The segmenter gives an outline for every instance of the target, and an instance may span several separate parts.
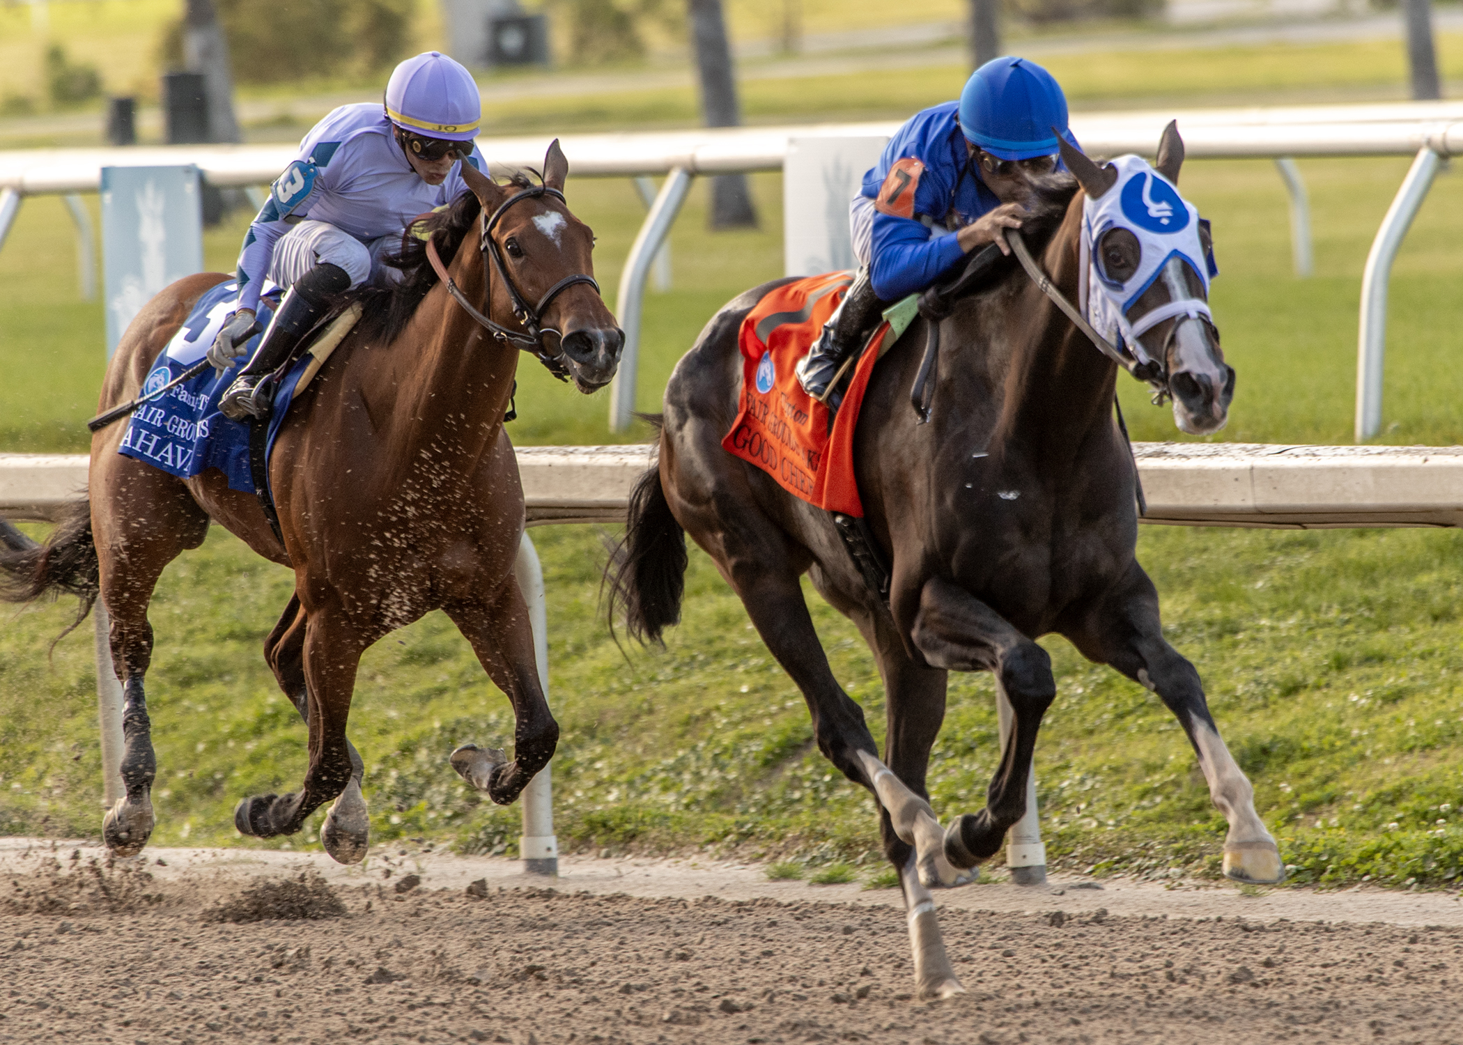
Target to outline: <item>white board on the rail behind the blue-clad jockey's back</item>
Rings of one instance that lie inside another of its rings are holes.
[[[849,203],[888,138],[793,138],[783,165],[786,275],[857,268]]]

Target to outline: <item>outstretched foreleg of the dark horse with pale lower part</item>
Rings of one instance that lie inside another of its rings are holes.
[[[1137,562],[1068,638],[1088,659],[1112,664],[1156,692],[1184,726],[1210,799],[1229,823],[1225,875],[1246,883],[1283,881],[1285,861],[1255,812],[1255,789],[1219,736],[1198,670],[1163,638],[1159,593]]]

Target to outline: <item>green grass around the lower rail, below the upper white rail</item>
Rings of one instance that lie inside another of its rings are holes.
[[[1239,391],[1226,439],[1349,442],[1356,297],[1366,246],[1404,161],[1315,161],[1317,269],[1289,271],[1285,196],[1268,164],[1195,162],[1186,195],[1211,217],[1222,278],[1214,309]],[[762,231],[708,236],[698,189],[673,241],[676,288],[650,300],[639,404],[726,299],[780,272],[780,183],[755,180]],[[601,282],[641,206],[620,181],[572,181],[600,236]],[[1393,278],[1387,442],[1454,443],[1463,433],[1453,347],[1463,201],[1440,177]],[[99,306],[76,303],[66,218],[29,201],[0,250],[0,451],[80,451],[101,378]],[[209,233],[227,268],[241,222]],[[1138,439],[1178,438],[1166,410],[1124,385]],[[521,443],[607,442],[607,404],[521,370]],[[612,643],[595,619],[600,534],[534,531],[550,591],[550,700],[563,724],[554,763],[566,847],[736,850],[780,874],[875,878],[869,799],[812,745],[799,694],[749,629],[705,556],[692,555],[686,618],[664,653]],[[1276,533],[1144,528],[1140,556],[1169,632],[1206,678],[1220,727],[1257,787],[1298,881],[1454,883],[1463,862],[1463,710],[1454,679],[1459,555],[1451,531]],[[246,793],[297,786],[304,730],[259,656],[288,572],[214,531],[164,575],[151,695],[161,843],[260,844],[234,836]],[[868,651],[813,597],[835,672],[882,735]],[[94,834],[99,760],[89,625],[47,660],[69,607],[0,616],[0,831]],[[1059,697],[1037,751],[1055,861],[1081,869],[1216,872],[1222,820],[1182,732],[1157,701],[1061,640]],[[410,836],[512,853],[518,809],[496,809],[446,767],[458,742],[511,735],[506,701],[448,621],[382,641],[360,673],[353,738],[367,763],[377,840]],[[941,815],[973,811],[993,767],[993,694],[952,676],[930,786]],[[317,817],[291,840],[315,846]],[[787,868],[786,864],[797,865]],[[996,871],[999,874],[999,871]]]

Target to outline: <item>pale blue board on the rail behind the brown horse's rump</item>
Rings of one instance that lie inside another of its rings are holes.
[[[102,167],[107,359],[152,296],[203,271],[198,167]]]

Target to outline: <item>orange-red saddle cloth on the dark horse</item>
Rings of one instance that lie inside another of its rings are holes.
[[[793,496],[862,518],[853,432],[890,325],[869,338],[837,413],[808,395],[793,373],[851,284],[851,272],[797,280],[771,291],[742,321],[742,410],[721,445]]]

